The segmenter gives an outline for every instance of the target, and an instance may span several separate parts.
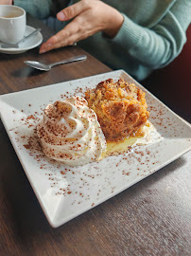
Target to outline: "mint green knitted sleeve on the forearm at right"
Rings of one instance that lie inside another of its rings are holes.
[[[160,68],[177,57],[186,42],[185,31],[191,22],[191,1],[177,0],[153,27],[141,27],[125,14],[123,16],[124,23],[111,43],[140,64],[152,69]]]

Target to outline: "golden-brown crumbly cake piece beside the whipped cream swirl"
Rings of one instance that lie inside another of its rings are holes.
[[[138,134],[148,120],[145,93],[134,83],[120,79],[99,82],[85,94],[88,106],[96,112],[107,140],[123,140]]]

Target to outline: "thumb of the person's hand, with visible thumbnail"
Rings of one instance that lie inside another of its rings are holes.
[[[68,21],[78,16],[78,14],[83,12],[85,9],[87,9],[87,7],[84,5],[83,1],[79,1],[75,5],[61,9],[61,11],[57,13],[57,18],[60,21]]]

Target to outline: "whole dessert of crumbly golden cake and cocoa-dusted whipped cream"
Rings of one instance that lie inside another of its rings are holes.
[[[37,127],[45,155],[77,166],[124,154],[137,142],[148,144],[148,105],[145,93],[133,83],[99,82],[86,91],[85,98],[76,96],[46,106]]]

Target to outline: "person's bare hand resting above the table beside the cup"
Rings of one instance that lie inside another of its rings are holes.
[[[81,0],[62,9],[57,18],[60,21],[73,19],[66,27],[45,42],[40,53],[62,46],[72,46],[96,32],[102,31],[114,37],[123,24],[123,16],[111,6],[97,0]]]

